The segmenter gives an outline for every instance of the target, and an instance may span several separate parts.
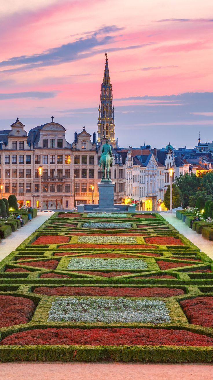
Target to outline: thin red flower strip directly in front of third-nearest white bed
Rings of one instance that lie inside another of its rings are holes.
[[[157,249],[157,247],[153,246],[153,245],[148,245],[148,244],[72,244],[72,246],[70,244],[64,244],[64,245],[59,245],[58,248],[98,248],[98,246],[100,246],[101,248],[110,248],[110,249],[143,249],[143,248],[146,248],[146,249]]]

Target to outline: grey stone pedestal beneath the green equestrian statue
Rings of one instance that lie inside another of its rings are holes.
[[[96,212],[116,212],[120,211],[114,207],[114,187],[115,182],[112,182],[108,179],[102,179],[98,183],[98,192],[99,192],[99,202],[98,207],[93,208],[93,211]]]

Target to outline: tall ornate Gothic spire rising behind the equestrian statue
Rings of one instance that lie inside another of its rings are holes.
[[[101,84],[101,108],[98,108],[98,142],[106,136],[109,144],[115,147],[115,123],[114,106],[112,107],[112,85],[110,83],[108,59],[106,53],[106,63],[104,78]]]

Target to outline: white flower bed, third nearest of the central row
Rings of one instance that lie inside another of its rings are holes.
[[[136,244],[137,240],[134,236],[79,236],[78,243],[92,243],[92,244]]]

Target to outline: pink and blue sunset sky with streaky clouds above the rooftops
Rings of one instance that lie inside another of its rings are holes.
[[[121,147],[213,140],[212,0],[0,3],[0,128],[97,131],[108,52]]]

